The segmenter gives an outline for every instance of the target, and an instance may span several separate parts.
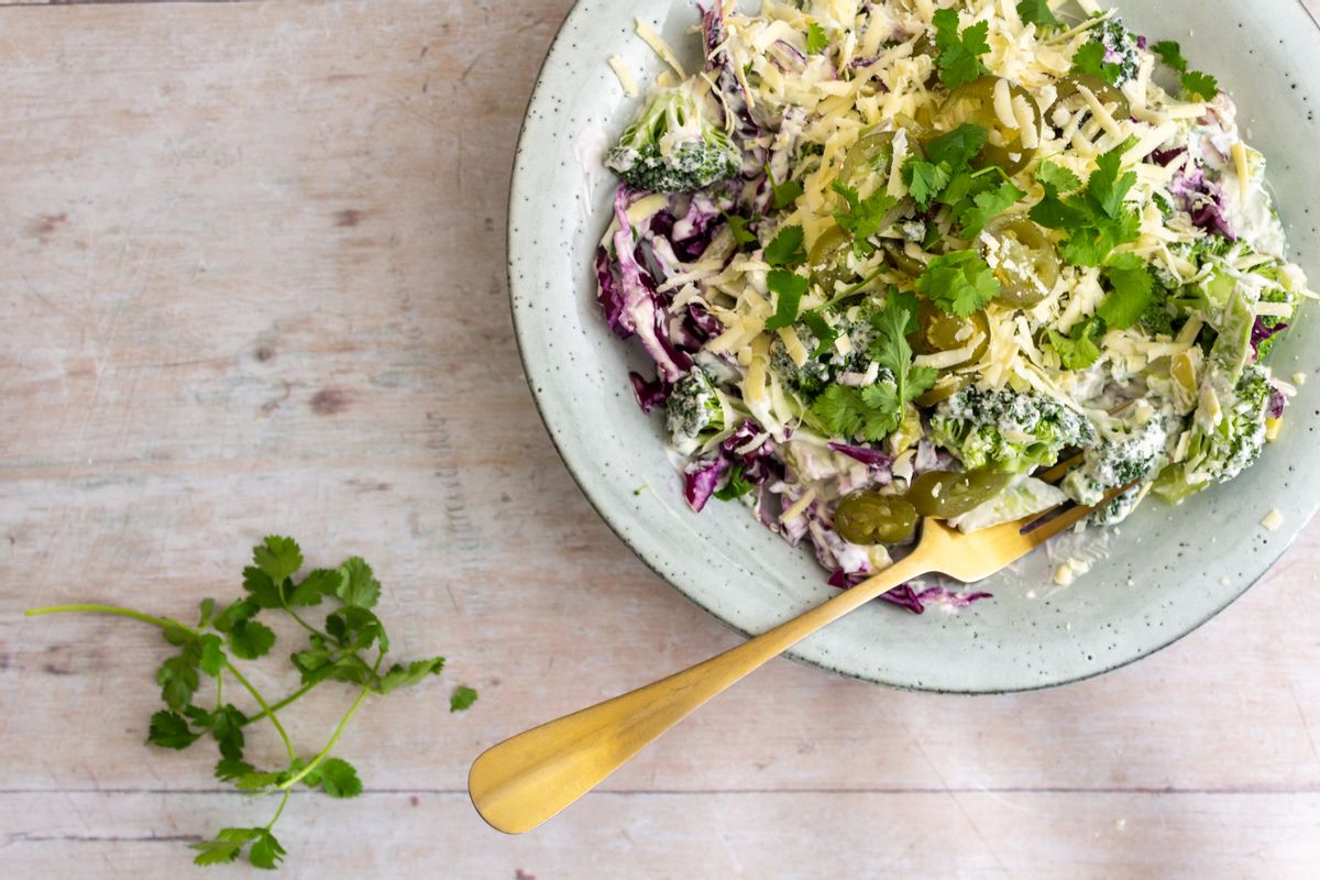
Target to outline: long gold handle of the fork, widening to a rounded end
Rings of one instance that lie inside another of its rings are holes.
[[[467,777],[473,805],[499,831],[531,831],[748,673],[876,596],[928,571],[928,566],[909,557],[702,664],[491,747],[473,763]]]

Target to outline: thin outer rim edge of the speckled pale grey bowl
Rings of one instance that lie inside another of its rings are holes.
[[[706,612],[710,616],[713,616],[715,620],[718,620],[719,623],[722,623],[729,629],[733,629],[734,632],[737,632],[737,633],[739,633],[739,635],[742,635],[744,637],[752,637],[752,636],[755,636],[758,633],[750,632],[746,628],[739,627],[735,623],[730,621],[723,615],[718,613],[708,603],[702,602],[694,592],[684,588],[682,584],[677,583],[672,577],[669,577],[668,574],[665,574],[661,570],[661,567],[657,565],[657,562],[655,559],[652,559],[649,557],[649,554],[644,553],[639,546],[636,546],[636,544],[634,544],[634,541],[626,534],[626,532],[623,530],[623,525],[619,521],[616,521],[615,516],[612,516],[611,512],[607,509],[606,501],[601,500],[597,496],[597,493],[591,491],[590,482],[583,476],[582,472],[579,472],[579,468],[573,464],[573,459],[566,453],[566,450],[564,449],[560,438],[557,437],[557,434],[553,430],[550,430],[553,416],[548,410],[548,406],[546,406],[546,402],[545,402],[545,394],[543,393],[543,391],[540,391],[537,388],[536,381],[533,379],[535,364],[531,361],[531,355],[528,352],[528,344],[527,344],[525,332],[524,332],[525,327],[524,327],[524,323],[523,323],[524,319],[525,319],[525,315],[523,314],[523,310],[519,309],[517,299],[513,296],[515,289],[519,286],[517,285],[517,280],[515,277],[515,261],[516,261],[516,256],[515,255],[516,255],[516,248],[517,248],[517,243],[516,243],[517,241],[517,236],[515,234],[516,212],[515,212],[515,204],[513,203],[515,203],[515,199],[516,199],[517,194],[523,190],[523,186],[524,186],[523,177],[524,177],[525,173],[528,173],[523,168],[523,153],[524,153],[524,145],[525,145],[525,136],[527,136],[527,129],[528,129],[529,120],[531,120],[531,111],[532,111],[533,107],[537,106],[539,99],[543,98],[545,71],[546,71],[548,66],[550,65],[552,59],[556,55],[556,49],[560,46],[560,42],[565,37],[565,26],[583,9],[583,7],[587,5],[587,3],[589,3],[589,0],[576,0],[574,4],[572,5],[572,8],[565,13],[565,16],[562,17],[562,20],[560,21],[560,25],[556,28],[554,37],[550,41],[550,45],[549,45],[549,47],[548,47],[548,50],[545,53],[545,58],[541,61],[541,65],[540,65],[540,67],[537,70],[537,75],[536,75],[536,79],[535,79],[532,95],[531,95],[531,98],[527,102],[527,107],[524,110],[523,119],[521,119],[520,125],[519,125],[517,146],[515,149],[513,160],[512,160],[512,170],[511,170],[511,177],[510,177],[510,190],[508,190],[508,197],[507,197],[507,201],[506,201],[506,280],[508,282],[510,311],[511,311],[511,315],[512,315],[512,323],[513,323],[513,330],[515,330],[515,340],[516,340],[517,351],[519,351],[519,359],[520,359],[520,363],[523,365],[524,381],[527,383],[528,391],[529,391],[529,393],[532,396],[533,405],[536,406],[537,414],[539,414],[539,417],[540,417],[540,420],[543,422],[543,426],[545,427],[545,433],[549,437],[550,443],[552,443],[556,454],[558,455],[560,460],[564,463],[565,468],[569,471],[569,475],[573,478],[574,483],[577,483],[577,486],[578,486],[579,491],[582,492],[582,495],[587,499],[587,501],[595,509],[597,515],[605,521],[605,524],[619,538],[619,541],[622,541],[643,562],[643,565],[647,566],[647,569],[649,569],[656,577],[659,577],[665,583],[668,583],[672,588],[675,588],[681,596],[684,596],[693,606],[701,608],[704,612]],[[1308,15],[1309,15],[1309,12],[1308,12]],[[1320,21],[1315,21],[1315,20],[1312,20],[1312,21],[1313,21],[1313,24],[1316,24],[1317,26],[1320,26]],[[528,310],[528,313],[529,313],[529,310]],[[1316,317],[1311,315],[1311,319],[1316,319]],[[1309,519],[1315,515],[1316,507],[1317,505],[1312,505],[1312,511],[1307,516],[1307,521],[1309,521]],[[1131,656],[1129,656],[1129,657],[1126,657],[1126,658],[1123,658],[1123,660],[1121,660],[1118,662],[1114,662],[1114,664],[1110,664],[1110,665],[1106,665],[1106,666],[1100,666],[1100,668],[1097,668],[1094,670],[1090,670],[1090,672],[1086,672],[1086,673],[1082,673],[1082,674],[1076,674],[1076,676],[1069,676],[1069,677],[1065,677],[1065,678],[1059,678],[1059,679],[1055,679],[1055,681],[1048,681],[1048,682],[1044,682],[1044,683],[1040,683],[1040,685],[1024,685],[1024,686],[1015,686],[1015,687],[991,687],[991,689],[956,689],[956,687],[924,686],[924,685],[919,685],[919,683],[913,685],[913,683],[908,683],[908,682],[887,681],[887,679],[884,679],[882,677],[865,676],[865,674],[857,673],[854,670],[845,669],[842,666],[837,666],[837,665],[833,665],[830,662],[817,660],[814,657],[803,656],[801,653],[799,653],[796,650],[796,648],[787,650],[784,653],[784,656],[788,657],[789,660],[793,660],[793,661],[799,662],[799,664],[803,664],[803,665],[807,665],[807,666],[812,666],[812,668],[816,668],[816,669],[822,669],[822,670],[826,670],[826,672],[842,676],[845,678],[851,678],[851,679],[855,679],[855,681],[861,681],[861,682],[866,682],[866,683],[873,683],[873,685],[880,685],[880,686],[884,686],[884,687],[891,687],[891,689],[895,689],[895,690],[909,691],[909,693],[928,693],[928,694],[957,695],[957,697],[994,697],[994,695],[1006,695],[1006,694],[1016,694],[1016,693],[1048,691],[1048,690],[1053,690],[1053,689],[1057,689],[1057,687],[1064,687],[1067,685],[1074,685],[1074,683],[1090,681],[1093,678],[1100,678],[1102,676],[1113,673],[1115,670],[1123,669],[1123,668],[1130,666],[1130,665],[1133,665],[1133,664],[1135,664],[1135,662],[1138,662],[1140,660],[1151,657],[1151,656],[1154,656],[1154,654],[1164,650],[1166,648],[1170,648],[1170,646],[1177,644],[1179,641],[1181,641],[1187,636],[1191,636],[1192,633],[1197,632],[1201,627],[1204,627],[1205,624],[1208,624],[1209,621],[1212,621],[1214,617],[1217,617],[1220,613],[1222,613],[1226,608],[1229,608],[1229,606],[1232,606],[1233,603],[1236,603],[1238,599],[1241,599],[1243,595],[1246,595],[1246,592],[1249,590],[1251,590],[1262,579],[1265,579],[1272,571],[1272,569],[1278,565],[1278,562],[1292,548],[1292,545],[1295,544],[1296,537],[1300,533],[1302,528],[1303,526],[1298,526],[1288,536],[1288,538],[1284,542],[1282,542],[1282,545],[1279,545],[1278,550],[1269,558],[1269,563],[1258,574],[1255,574],[1254,577],[1250,577],[1250,578],[1245,579],[1238,588],[1236,588],[1230,594],[1226,594],[1226,598],[1221,603],[1218,603],[1213,610],[1210,610],[1208,613],[1205,613],[1203,617],[1200,617],[1192,625],[1187,627],[1184,631],[1176,632],[1172,636],[1170,636],[1168,639],[1166,639],[1163,641],[1159,641],[1158,644],[1154,644],[1154,645],[1151,645],[1148,648],[1139,649],[1139,650],[1134,652]]]

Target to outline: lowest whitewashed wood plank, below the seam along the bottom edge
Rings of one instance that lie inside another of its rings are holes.
[[[0,859],[11,876],[62,876],[70,864],[79,876],[187,876],[194,835],[264,822],[271,806],[220,796],[3,796]],[[1316,811],[1317,794],[594,794],[536,834],[510,838],[459,794],[308,796],[279,830],[290,879],[1309,880],[1320,862]]]

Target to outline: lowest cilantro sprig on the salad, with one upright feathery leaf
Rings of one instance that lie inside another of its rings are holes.
[[[871,358],[887,375],[866,388],[830,385],[812,404],[812,416],[830,434],[876,443],[899,429],[908,404],[931,391],[939,373],[912,363],[907,335],[916,321],[911,294],[891,289],[871,325],[876,338]]]

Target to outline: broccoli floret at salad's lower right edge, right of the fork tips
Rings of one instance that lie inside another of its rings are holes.
[[[1261,458],[1270,408],[1270,373],[1250,365],[1229,394],[1206,385],[1187,456],[1160,474],[1155,493],[1177,504],[1214,483],[1226,483]]]

